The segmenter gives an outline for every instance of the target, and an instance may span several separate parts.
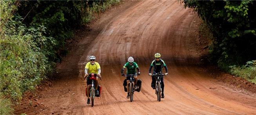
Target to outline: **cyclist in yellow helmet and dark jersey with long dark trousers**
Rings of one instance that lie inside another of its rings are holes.
[[[160,59],[161,58],[161,54],[159,53],[156,53],[155,54],[155,58],[150,67],[149,67],[149,75],[152,75],[151,74],[151,69],[152,67],[154,67],[153,69],[153,74],[156,74],[156,73],[160,73],[162,72],[163,70],[163,67],[165,68],[165,75],[168,75],[168,69],[167,69],[167,66],[166,64],[164,63],[163,59]],[[151,82],[151,87],[153,89],[156,89],[156,79],[154,77],[152,77],[152,82]],[[164,95],[163,95],[163,88],[164,88],[164,84],[163,84],[163,77],[161,78],[161,88],[162,88],[162,98],[164,98]]]

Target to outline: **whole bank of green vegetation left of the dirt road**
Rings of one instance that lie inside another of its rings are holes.
[[[54,73],[65,41],[119,0],[0,1],[0,115]]]

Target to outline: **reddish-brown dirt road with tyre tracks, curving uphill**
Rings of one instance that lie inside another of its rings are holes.
[[[58,79],[40,90],[38,100],[16,109],[16,114],[61,115],[172,115],[172,114],[256,114],[256,98],[232,90],[212,78],[191,54],[198,18],[176,0],[126,1],[103,14],[91,32],[81,32],[69,55],[58,65]],[[84,35],[81,35],[84,34]],[[157,101],[148,69],[159,52],[167,64],[165,98]],[[102,69],[102,95],[94,107],[86,104],[86,82],[82,81],[88,56],[96,56]],[[123,91],[122,66],[129,56],[142,75],[141,92],[134,101]],[[25,105],[25,104],[24,104]]]

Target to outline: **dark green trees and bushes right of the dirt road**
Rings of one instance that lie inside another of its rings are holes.
[[[209,56],[222,70],[256,83],[256,1],[182,0],[212,35]]]

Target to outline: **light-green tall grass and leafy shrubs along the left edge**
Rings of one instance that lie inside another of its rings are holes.
[[[42,34],[44,29],[31,31],[32,27],[22,24],[22,18],[13,19],[12,1],[1,1],[0,9],[0,114],[6,115],[13,112],[11,101],[19,102],[22,94],[33,90],[53,66],[36,41],[45,38],[42,43],[46,44],[51,40]]]

